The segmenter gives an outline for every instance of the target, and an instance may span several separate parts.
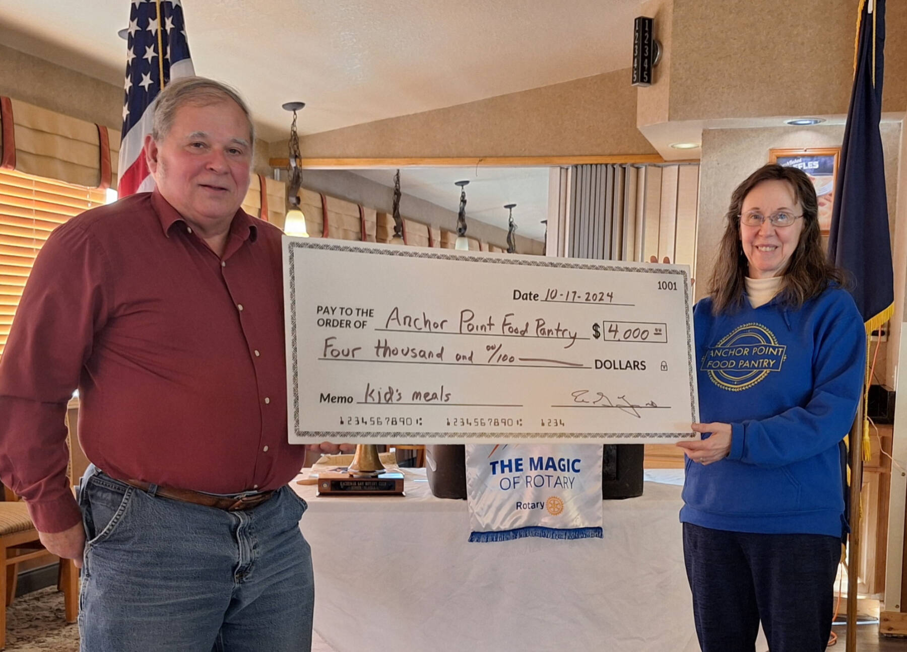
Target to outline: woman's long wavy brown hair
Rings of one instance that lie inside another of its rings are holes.
[[[804,227],[794,254],[787,262],[785,280],[778,293],[779,300],[789,307],[801,307],[807,299],[822,294],[829,283],[845,285],[844,270],[834,266],[822,249],[819,230],[818,202],[815,187],[803,170],[780,165],[764,165],[736,187],[725,216],[725,234],[718,245],[718,258],[712,272],[709,294],[712,313],[743,306],[746,285],[744,279],[749,261],[740,243],[740,211],[750,190],[763,181],[786,181],[794,190],[794,199],[803,209]]]

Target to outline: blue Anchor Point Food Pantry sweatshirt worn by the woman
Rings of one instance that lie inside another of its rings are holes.
[[[680,521],[842,536],[839,443],[860,401],[866,346],[853,298],[829,287],[796,310],[775,297],[719,316],[706,298],[694,325],[699,421],[730,423],[732,439],[724,460],[687,460]]]

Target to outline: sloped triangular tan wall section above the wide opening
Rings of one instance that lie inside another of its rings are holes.
[[[446,109],[305,136],[307,158],[653,154],[636,128],[630,72],[558,83]],[[285,157],[286,141],[271,143]]]

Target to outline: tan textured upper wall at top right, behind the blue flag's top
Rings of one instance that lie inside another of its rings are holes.
[[[846,113],[858,0],[673,0],[672,121]],[[907,3],[887,3],[883,111],[907,109]]]

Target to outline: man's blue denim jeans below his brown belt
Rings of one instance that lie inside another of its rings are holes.
[[[82,652],[300,652],[314,583],[306,502],[282,487],[247,511],[141,491],[88,468]]]

